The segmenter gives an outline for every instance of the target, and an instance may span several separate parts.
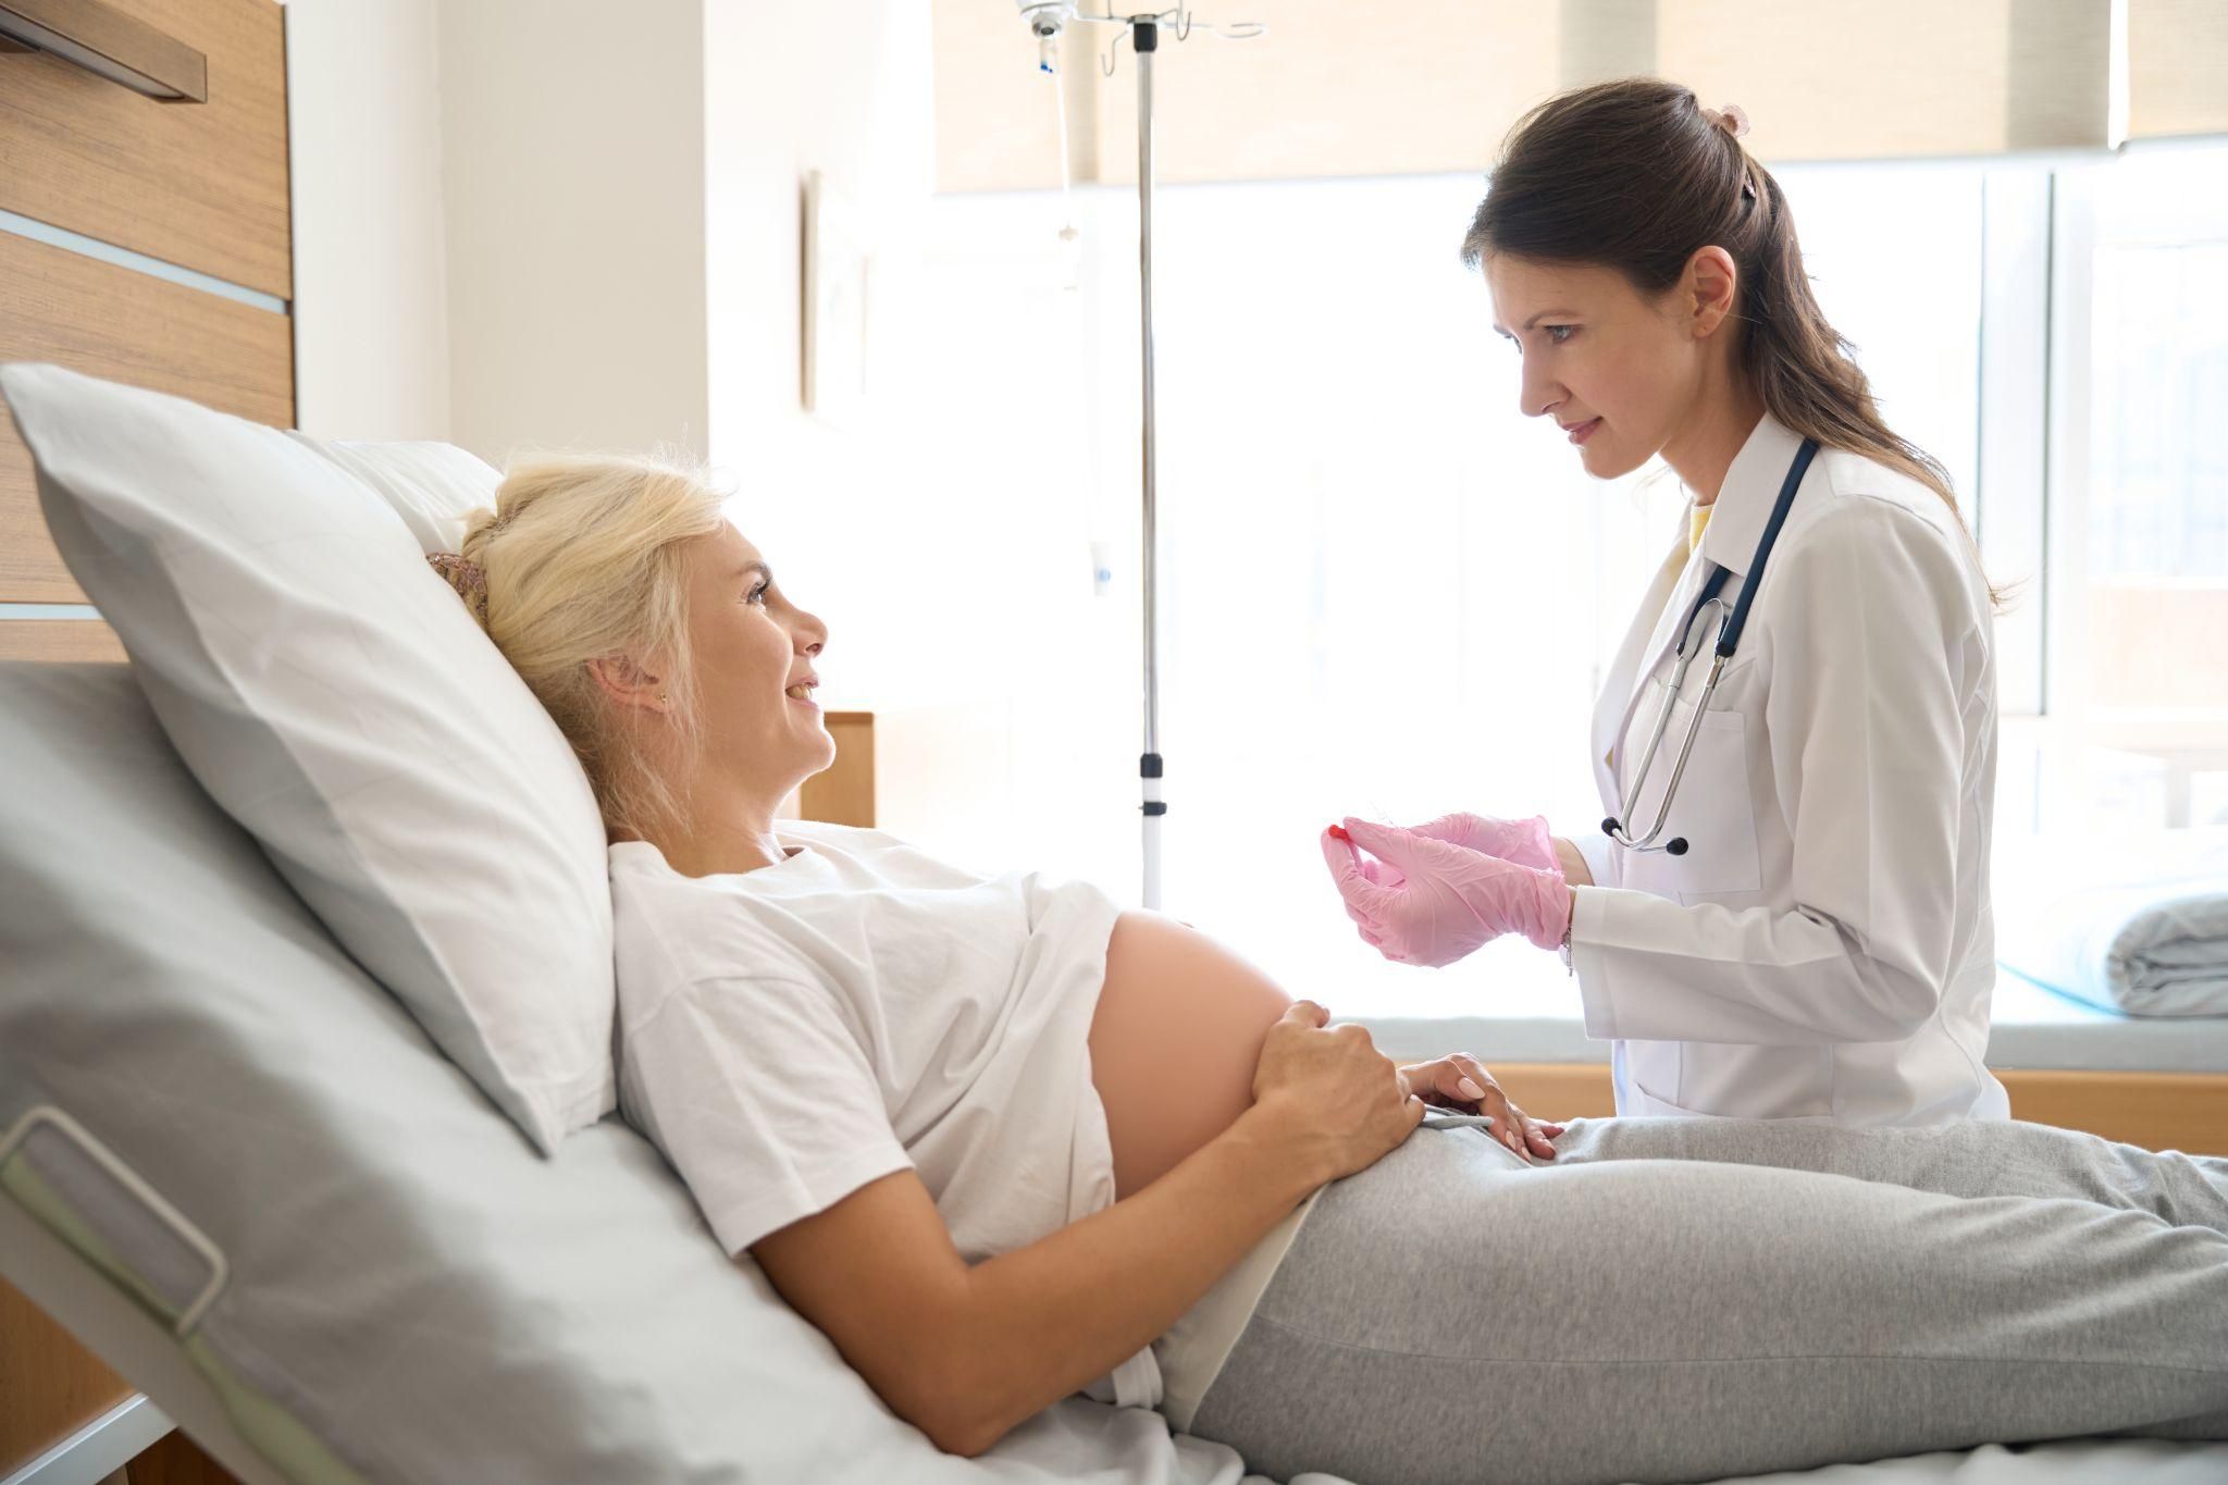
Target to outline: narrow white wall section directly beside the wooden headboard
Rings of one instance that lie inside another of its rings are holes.
[[[448,439],[434,0],[292,0],[296,423]]]

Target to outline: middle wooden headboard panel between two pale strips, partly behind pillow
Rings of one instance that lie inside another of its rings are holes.
[[[11,234],[0,234],[0,361],[53,361],[256,423],[294,423],[287,316]],[[0,603],[82,601],[47,541],[31,454],[0,419]]]

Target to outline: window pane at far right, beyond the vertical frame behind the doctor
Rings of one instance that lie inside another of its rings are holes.
[[[2025,824],[2228,824],[2228,145],[2063,169],[2052,225],[2048,704],[2021,739]]]

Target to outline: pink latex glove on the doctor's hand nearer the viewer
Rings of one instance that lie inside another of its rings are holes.
[[[1364,942],[1395,964],[1439,968],[1504,933],[1562,944],[1571,888],[1560,871],[1366,819],[1346,819],[1343,830],[1343,842],[1323,830],[1323,864]]]

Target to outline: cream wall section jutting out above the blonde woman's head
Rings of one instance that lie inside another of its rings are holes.
[[[439,49],[452,441],[702,459],[702,0],[452,2]]]

